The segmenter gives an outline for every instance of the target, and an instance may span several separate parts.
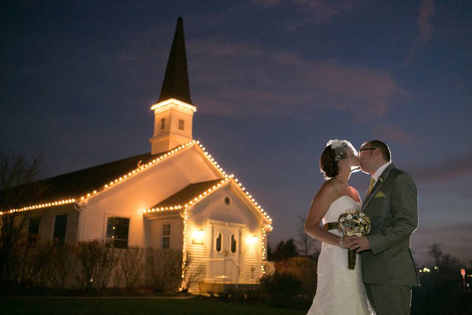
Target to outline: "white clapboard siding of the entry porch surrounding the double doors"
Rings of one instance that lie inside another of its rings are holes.
[[[238,189],[229,183],[224,187],[208,195],[202,201],[190,208],[187,223],[187,252],[194,260],[209,258],[211,251],[211,225],[210,221],[228,222],[241,226],[241,239],[239,240],[240,259],[239,266],[241,274],[240,283],[254,283],[261,277],[261,242],[262,242],[262,219],[247,203]],[[224,199],[229,196],[231,203],[226,205]],[[206,241],[203,245],[192,243],[192,233],[198,229],[205,230]],[[255,244],[246,240],[253,235],[258,237]],[[231,258],[230,256],[228,258]],[[194,263],[196,267],[197,264]],[[251,267],[256,267],[255,279],[250,279]]]

